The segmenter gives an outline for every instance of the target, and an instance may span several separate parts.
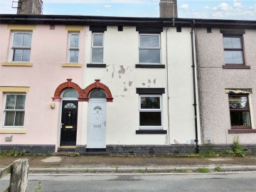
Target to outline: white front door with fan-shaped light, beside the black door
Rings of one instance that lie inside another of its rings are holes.
[[[89,100],[87,148],[106,148],[106,100]]]

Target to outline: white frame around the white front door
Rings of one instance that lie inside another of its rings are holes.
[[[93,146],[90,146],[89,142],[90,142],[90,123],[91,123],[91,116],[92,116],[92,113],[91,113],[91,107],[92,107],[92,103],[97,103],[97,102],[100,102],[102,103],[103,105],[105,105],[105,112],[104,112],[104,115],[105,115],[105,122],[107,121],[107,100],[105,98],[92,98],[89,100],[89,105],[88,105],[88,121],[87,121],[87,146],[86,148],[88,149],[105,149],[106,148],[106,143],[107,143],[107,123],[105,123],[105,131],[103,133],[105,133],[105,135],[103,137],[105,137],[104,139],[104,144],[102,144],[103,147],[93,147]],[[89,146],[88,146],[89,144]]]

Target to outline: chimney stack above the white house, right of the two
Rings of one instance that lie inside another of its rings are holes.
[[[178,17],[177,0],[161,0],[159,6],[160,17]]]

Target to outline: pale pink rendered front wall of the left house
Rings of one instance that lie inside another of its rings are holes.
[[[8,62],[11,31],[7,25],[1,25],[1,55],[0,63]],[[80,63],[84,61],[85,31],[80,33]],[[32,67],[0,66],[0,86],[30,87],[26,94],[24,128],[25,134],[12,134],[12,142],[5,142],[6,135],[0,134],[1,144],[55,144],[59,146],[60,138],[60,107],[61,102],[55,102],[55,109],[50,109],[50,103],[55,89],[68,78],[82,87],[82,68],[63,68],[67,63],[68,31],[65,26],[55,26],[50,30],[48,25],[38,25],[33,30],[31,45]],[[4,94],[0,92],[1,112],[4,106]],[[82,105],[79,104],[79,114]],[[1,127],[3,119],[0,116]],[[78,115],[78,133],[81,132],[82,118]],[[78,134],[80,135],[80,134]],[[80,137],[78,137],[80,139]],[[79,143],[80,141],[78,141]]]

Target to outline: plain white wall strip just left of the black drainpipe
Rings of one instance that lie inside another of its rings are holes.
[[[170,142],[190,144],[196,139],[193,107],[191,28],[168,29]],[[198,113],[199,117],[199,113]],[[200,140],[198,118],[198,139]]]

